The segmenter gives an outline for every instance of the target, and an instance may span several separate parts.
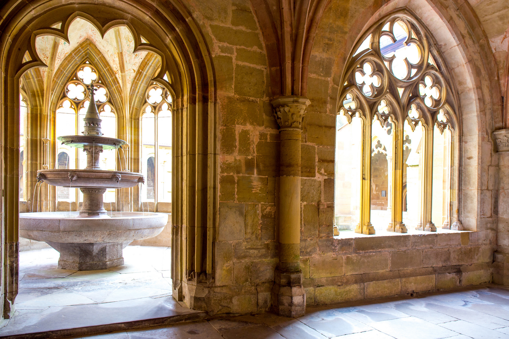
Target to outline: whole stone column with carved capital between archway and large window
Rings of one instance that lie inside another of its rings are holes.
[[[300,270],[300,140],[302,117],[309,100],[300,96],[274,99],[279,124],[279,264],[272,289],[274,312],[303,316],[306,294]]]

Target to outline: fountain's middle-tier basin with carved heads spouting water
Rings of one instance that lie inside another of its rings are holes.
[[[141,173],[85,169],[39,170],[37,179],[52,186],[100,189],[123,189],[145,182]]]

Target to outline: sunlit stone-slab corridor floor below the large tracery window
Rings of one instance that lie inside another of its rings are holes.
[[[509,338],[509,290],[488,286],[414,298],[308,307],[272,314],[88,336],[100,339],[496,339]]]

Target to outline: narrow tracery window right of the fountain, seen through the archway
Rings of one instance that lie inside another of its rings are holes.
[[[142,108],[142,202],[172,202],[172,104],[169,91],[152,83]]]

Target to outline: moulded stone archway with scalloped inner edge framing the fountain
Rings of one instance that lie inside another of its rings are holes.
[[[101,4],[68,1],[11,1],[0,20],[0,94],[2,105],[2,289],[3,317],[10,318],[18,285],[18,166],[19,79],[27,70],[45,67],[35,39],[52,35],[67,40],[70,23],[89,21],[101,34],[127,26],[134,51],[150,51],[161,58],[152,81],[175,93],[172,278],[174,298],[194,304],[195,288],[213,282],[212,232],[217,223],[217,111],[214,70],[204,39],[187,10],[178,2],[160,4],[108,0]],[[150,13],[150,16],[147,15]],[[60,28],[51,27],[60,22]],[[143,41],[142,37],[145,39]],[[30,60],[23,63],[23,55]],[[163,79],[169,74],[169,81]],[[39,147],[42,149],[42,142]],[[184,298],[183,296],[187,297]]]

